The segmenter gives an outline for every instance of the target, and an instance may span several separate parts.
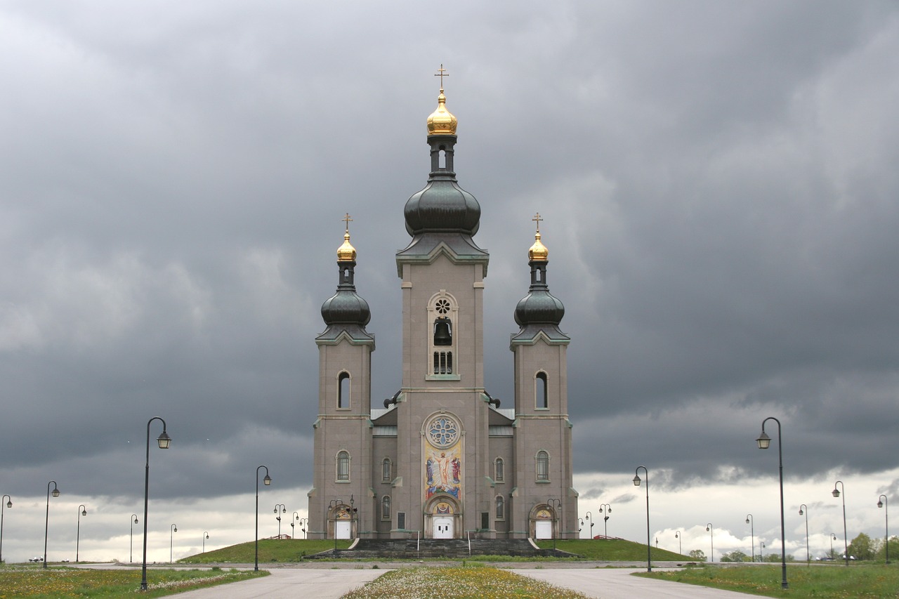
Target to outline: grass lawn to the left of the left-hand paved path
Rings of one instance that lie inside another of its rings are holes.
[[[0,597],[62,599],[138,593],[144,597],[163,597],[259,576],[268,576],[268,572],[151,569],[147,570],[147,592],[140,593],[140,570],[4,566],[0,568]]]

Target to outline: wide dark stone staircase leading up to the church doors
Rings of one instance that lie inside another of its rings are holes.
[[[305,559],[434,559],[472,555],[577,558],[562,550],[538,549],[529,539],[360,539],[346,550],[327,550]]]

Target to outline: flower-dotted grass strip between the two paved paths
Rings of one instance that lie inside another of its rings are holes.
[[[403,568],[343,599],[586,599],[586,595],[497,568]]]

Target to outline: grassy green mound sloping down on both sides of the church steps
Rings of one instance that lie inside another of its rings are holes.
[[[350,541],[337,541],[338,549],[347,549]],[[540,541],[543,549],[552,549],[553,541]],[[574,553],[583,559],[595,561],[645,561],[646,546],[624,539],[578,539],[572,541],[556,541],[556,548]],[[306,539],[263,539],[259,541],[259,563],[298,562],[304,556],[334,549],[334,540]],[[253,563],[254,542],[231,545],[222,549],[198,553],[188,558],[179,559],[184,564],[228,564]],[[660,561],[688,561],[690,558],[672,551],[652,549],[652,558]],[[540,560],[554,558],[539,558]],[[521,560],[521,559],[517,559]]]

